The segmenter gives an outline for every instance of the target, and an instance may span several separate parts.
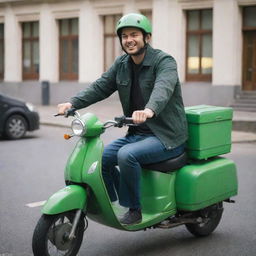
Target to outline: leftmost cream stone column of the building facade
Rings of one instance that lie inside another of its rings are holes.
[[[11,7],[5,11],[5,76],[6,82],[20,82],[22,80],[22,49],[21,27]]]

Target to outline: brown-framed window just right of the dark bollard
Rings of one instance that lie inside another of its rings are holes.
[[[78,19],[59,21],[60,80],[78,79]]]

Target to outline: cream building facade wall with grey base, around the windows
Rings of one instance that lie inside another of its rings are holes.
[[[229,105],[242,78],[241,6],[256,0],[81,0],[19,1],[0,5],[5,22],[5,81],[0,92],[41,103],[40,81],[51,82],[51,104],[62,102],[95,80],[103,71],[102,15],[153,10],[153,47],[177,60],[186,105]],[[185,11],[213,8],[213,80],[185,82]],[[79,80],[58,78],[58,19],[79,17]],[[23,21],[40,21],[40,79],[21,82],[21,27]]]

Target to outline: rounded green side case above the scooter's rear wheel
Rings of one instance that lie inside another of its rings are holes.
[[[237,195],[236,166],[226,158],[196,161],[177,171],[178,210],[196,211]]]

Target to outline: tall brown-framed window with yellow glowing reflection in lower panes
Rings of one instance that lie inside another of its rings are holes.
[[[210,81],[212,76],[212,10],[187,11],[186,79]]]

